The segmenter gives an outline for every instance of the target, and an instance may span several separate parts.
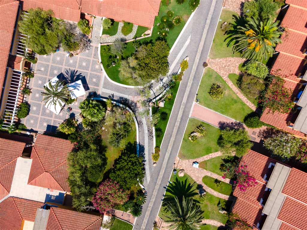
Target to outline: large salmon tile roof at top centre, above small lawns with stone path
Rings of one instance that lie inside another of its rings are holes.
[[[81,11],[115,21],[129,21],[152,27],[161,0],[82,0]]]

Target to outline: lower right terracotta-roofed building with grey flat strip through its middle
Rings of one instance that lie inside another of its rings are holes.
[[[235,188],[232,212],[260,230],[306,229],[307,174],[252,150],[242,161],[257,184]]]

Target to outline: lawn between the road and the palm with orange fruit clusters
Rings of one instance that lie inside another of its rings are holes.
[[[225,35],[221,30],[221,25],[227,21],[228,23],[232,23],[233,17],[232,15],[239,16],[235,11],[223,9],[221,13],[221,17],[215,32],[215,36],[213,38],[211,50],[209,53],[210,58],[224,58],[224,57],[240,57],[239,53],[233,53],[232,45],[233,42],[227,46],[228,40],[225,41],[228,35]]]

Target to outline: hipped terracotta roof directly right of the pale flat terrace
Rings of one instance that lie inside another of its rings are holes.
[[[69,140],[39,134],[32,148],[28,184],[70,192],[66,158],[73,148]]]

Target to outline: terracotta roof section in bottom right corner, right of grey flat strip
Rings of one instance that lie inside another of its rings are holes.
[[[300,230],[306,229],[307,205],[287,197],[277,218]]]

